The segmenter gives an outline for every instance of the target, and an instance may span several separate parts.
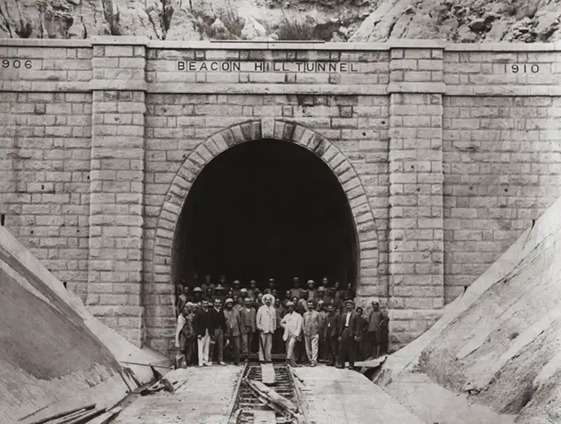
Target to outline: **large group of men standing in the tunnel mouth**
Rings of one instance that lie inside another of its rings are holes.
[[[186,365],[237,365],[258,353],[260,362],[281,354],[294,367],[323,362],[342,368],[348,362],[352,368],[356,360],[386,352],[388,316],[379,301],[363,317],[350,285],[343,289],[337,281],[330,285],[323,278],[316,288],[308,280],[303,289],[293,278],[282,299],[273,278],[262,290],[255,280],[246,288],[239,280],[230,285],[225,275],[217,285],[210,275],[201,284],[194,275],[178,289],[175,347]]]

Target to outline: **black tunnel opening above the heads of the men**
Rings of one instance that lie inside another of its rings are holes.
[[[348,200],[330,167],[297,144],[257,140],[206,165],[177,222],[173,281],[192,275],[269,278],[279,290],[326,276],[356,287],[358,243]],[[283,292],[280,292],[283,293]]]

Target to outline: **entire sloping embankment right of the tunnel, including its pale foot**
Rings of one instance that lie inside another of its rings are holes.
[[[428,421],[559,423],[560,305],[561,199],[375,381]]]

